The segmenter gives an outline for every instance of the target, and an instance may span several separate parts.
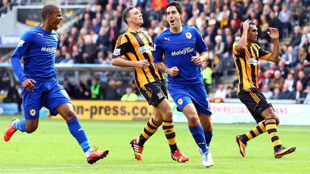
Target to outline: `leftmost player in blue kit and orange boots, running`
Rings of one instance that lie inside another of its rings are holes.
[[[87,162],[93,164],[106,157],[109,151],[97,151],[97,147],[90,147],[71,100],[56,77],[58,71],[55,68],[55,54],[59,36],[54,30],[59,28],[63,20],[62,10],[56,5],[45,5],[41,14],[43,22],[21,36],[11,57],[13,70],[22,86],[25,118],[13,118],[4,131],[3,139],[9,141],[17,130],[34,132],[38,127],[39,112],[44,106],[52,116],[60,114],[66,120],[71,134],[84,151]],[[21,58],[24,60],[24,70],[21,68]]]

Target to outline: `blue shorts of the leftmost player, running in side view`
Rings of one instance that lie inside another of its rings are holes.
[[[58,80],[36,80],[33,85],[35,86],[33,91],[22,87],[25,119],[39,118],[39,112],[43,106],[50,111],[51,116],[56,116],[58,113],[55,108],[65,103],[71,103],[69,95],[60,86]]]

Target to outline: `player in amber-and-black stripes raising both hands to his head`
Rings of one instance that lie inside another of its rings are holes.
[[[240,28],[241,38],[233,43],[234,63],[238,74],[238,97],[254,117],[258,126],[242,135],[237,135],[235,140],[239,146],[240,154],[245,156],[247,141],[268,132],[274,148],[274,157],[281,158],[295,151],[296,147],[285,148],[282,146],[277,132],[279,117],[271,103],[258,89],[258,59],[277,62],[279,58],[279,31],[277,28],[268,28],[268,34],[274,43],[274,50],[270,54],[262,50],[257,44],[257,27],[251,20],[246,20]]]

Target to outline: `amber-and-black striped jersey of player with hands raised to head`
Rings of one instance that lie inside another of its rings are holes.
[[[257,44],[246,45],[243,52],[237,51],[239,40],[233,43],[234,64],[238,74],[238,93],[248,88],[258,88],[258,59],[268,59],[271,53]]]

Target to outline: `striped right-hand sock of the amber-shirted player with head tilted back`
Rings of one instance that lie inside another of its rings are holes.
[[[175,129],[174,129],[173,121],[163,119],[162,130],[167,138],[171,153],[175,152],[177,150],[177,146],[176,146],[176,137],[175,137]]]

